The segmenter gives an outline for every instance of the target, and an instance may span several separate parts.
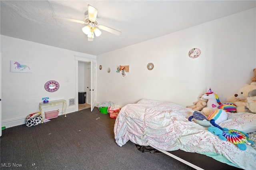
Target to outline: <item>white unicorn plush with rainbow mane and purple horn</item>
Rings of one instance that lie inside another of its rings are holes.
[[[213,111],[217,110],[218,107],[222,104],[220,103],[217,93],[213,93],[211,88],[208,90],[208,93],[205,93],[202,96],[202,98],[208,99],[206,107],[202,109],[202,113],[207,116],[209,116]]]

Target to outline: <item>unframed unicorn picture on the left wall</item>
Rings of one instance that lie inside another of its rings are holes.
[[[22,61],[11,61],[11,72],[32,73],[32,63]]]

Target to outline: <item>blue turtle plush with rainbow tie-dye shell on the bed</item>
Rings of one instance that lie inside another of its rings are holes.
[[[228,130],[228,128],[222,127],[209,127],[208,130],[212,134],[217,135],[220,138],[220,140],[228,140],[232,144],[236,144],[240,150],[246,150],[247,142],[254,144],[254,142],[249,139],[248,134],[242,131],[234,129]]]

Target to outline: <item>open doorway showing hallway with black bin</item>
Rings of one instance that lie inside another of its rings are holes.
[[[90,100],[90,62],[78,61],[78,111],[91,107]]]

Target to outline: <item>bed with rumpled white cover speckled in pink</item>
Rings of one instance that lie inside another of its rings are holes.
[[[220,140],[208,127],[188,121],[193,112],[175,103],[150,99],[128,104],[116,118],[116,143],[123,146],[130,140],[166,154],[181,150],[206,155],[232,167],[256,169],[256,144],[246,144],[246,150],[242,151],[235,144]],[[246,132],[256,142],[256,114],[228,112],[228,120],[220,126]]]

